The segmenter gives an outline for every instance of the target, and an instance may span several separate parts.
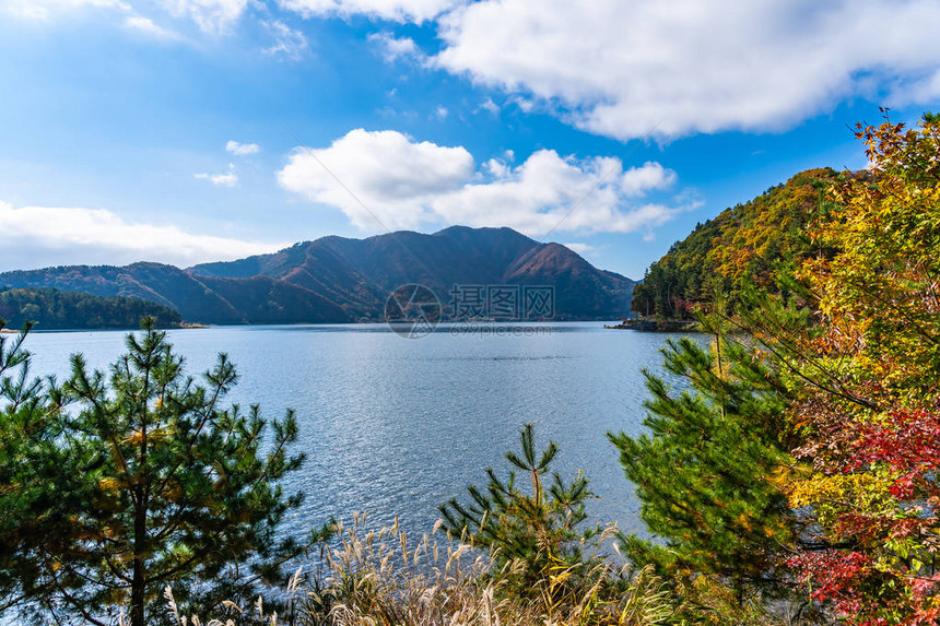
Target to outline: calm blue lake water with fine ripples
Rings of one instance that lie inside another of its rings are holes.
[[[563,476],[586,472],[599,496],[592,518],[642,532],[638,501],[604,434],[641,432],[641,370],[661,373],[667,335],[600,322],[483,329],[442,326],[408,340],[385,324],[222,327],[169,338],[192,374],[228,353],[242,377],[231,401],[258,403],[268,417],[296,410],[307,462],[286,486],[307,499],[289,530],[367,511],[376,524],[399,516],[409,531],[428,532],[437,505],[483,485],[486,468],[506,468],[503,454],[531,422],[540,446],[560,445]],[[67,376],[75,352],[104,368],[124,336],[37,332],[27,341],[34,374]]]

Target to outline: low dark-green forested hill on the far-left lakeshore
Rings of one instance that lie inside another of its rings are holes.
[[[179,328],[183,318],[169,307],[138,298],[102,297],[49,288],[0,290],[0,319],[8,329],[27,321],[36,330],[137,329],[144,317],[157,328]]]

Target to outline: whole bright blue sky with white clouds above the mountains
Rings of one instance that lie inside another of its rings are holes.
[[[940,104],[940,5],[0,0],[0,271],[512,226],[641,277]],[[298,145],[303,144],[303,145]]]

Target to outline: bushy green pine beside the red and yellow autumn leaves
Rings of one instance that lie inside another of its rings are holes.
[[[730,340],[720,316],[703,317],[710,347],[683,338],[663,349],[679,390],[645,373],[648,434],[609,434],[641,517],[665,543],[624,536],[636,566],[663,576],[717,575],[738,590],[773,589],[777,554],[795,541],[796,520],[779,484],[790,466],[787,388],[747,345]]]

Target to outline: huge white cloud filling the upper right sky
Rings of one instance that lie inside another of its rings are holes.
[[[938,23],[924,0],[482,0],[439,19],[434,61],[624,140],[779,130],[857,95],[937,98]]]

